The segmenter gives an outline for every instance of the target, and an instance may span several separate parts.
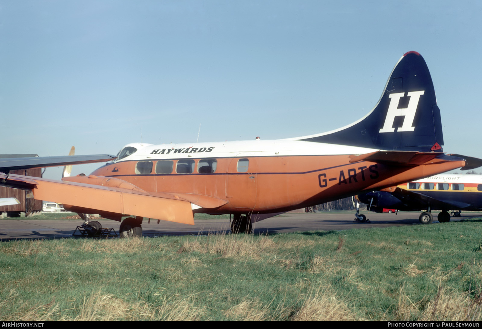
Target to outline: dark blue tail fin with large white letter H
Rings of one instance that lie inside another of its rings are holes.
[[[380,150],[440,151],[442,121],[427,63],[418,52],[405,53],[372,112],[347,127],[296,139]]]

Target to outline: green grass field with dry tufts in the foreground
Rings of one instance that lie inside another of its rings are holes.
[[[0,244],[0,320],[481,320],[482,219]]]

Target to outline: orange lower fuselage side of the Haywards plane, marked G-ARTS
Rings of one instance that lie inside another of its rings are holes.
[[[213,154],[214,155],[214,154]],[[215,158],[215,157],[213,157]],[[247,172],[237,171],[241,157],[215,158],[214,173],[176,173],[178,159],[172,159],[172,173],[136,174],[138,161],[119,161],[95,170],[91,175],[127,181],[151,195],[192,193],[228,201],[217,208],[195,212],[273,213],[306,207],[353,195],[362,190],[380,189],[463,166],[460,162],[432,160],[420,166],[388,166],[360,161],[349,163],[349,155],[253,156]],[[195,161],[198,167],[200,159]],[[145,160],[144,160],[145,161]],[[156,159],[149,159],[155,168]],[[74,177],[71,177],[71,179]],[[83,177],[81,182],[88,182]]]

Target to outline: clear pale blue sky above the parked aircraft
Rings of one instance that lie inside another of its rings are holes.
[[[345,126],[406,51],[444,151],[482,158],[480,1],[0,1],[0,153],[279,139]],[[96,165],[74,166],[73,174]],[[60,177],[47,169],[45,177]]]

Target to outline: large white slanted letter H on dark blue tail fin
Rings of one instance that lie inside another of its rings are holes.
[[[380,129],[380,132],[394,132],[395,128],[392,128],[393,121],[395,120],[396,116],[404,116],[403,125],[399,127],[397,131],[414,131],[415,127],[412,127],[414,124],[414,117],[415,112],[417,111],[418,100],[420,96],[424,94],[425,90],[419,91],[410,91],[407,93],[407,96],[410,96],[410,101],[408,102],[408,106],[405,109],[398,109],[398,103],[400,101],[400,97],[403,97],[405,94],[404,92],[397,92],[388,95],[390,98],[390,104],[388,105],[387,117],[385,118],[385,123],[383,124],[383,128]]]

